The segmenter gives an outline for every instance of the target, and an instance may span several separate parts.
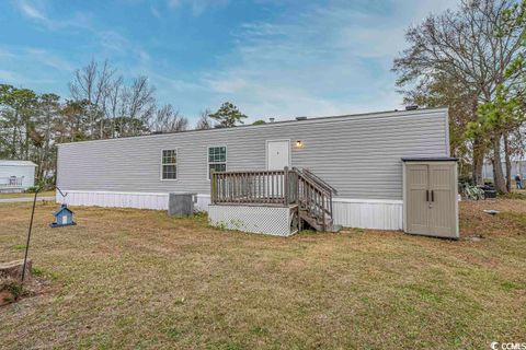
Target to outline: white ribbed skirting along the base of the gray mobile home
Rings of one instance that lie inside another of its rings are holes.
[[[64,190],[64,202],[71,206],[98,206],[168,210],[168,194]],[[57,202],[62,202],[56,192]],[[195,209],[208,211],[209,195],[197,195]],[[403,201],[388,199],[333,199],[334,223],[344,228],[402,230]]]

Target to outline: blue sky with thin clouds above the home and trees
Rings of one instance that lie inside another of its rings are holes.
[[[194,119],[230,101],[286,119],[400,108],[404,30],[455,0],[5,0],[0,82],[68,97],[77,68],[146,74]]]

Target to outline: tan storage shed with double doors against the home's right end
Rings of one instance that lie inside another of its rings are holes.
[[[404,158],[403,231],[459,237],[457,159]]]

